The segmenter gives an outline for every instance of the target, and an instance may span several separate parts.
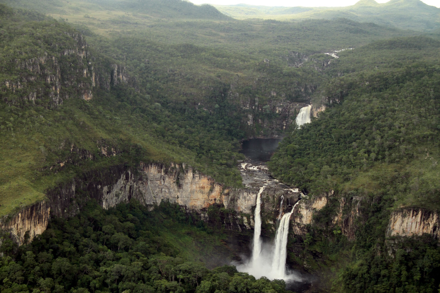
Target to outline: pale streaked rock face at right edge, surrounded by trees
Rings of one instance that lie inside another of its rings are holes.
[[[420,236],[424,233],[440,240],[438,213],[422,209],[406,209],[392,212],[387,236]]]

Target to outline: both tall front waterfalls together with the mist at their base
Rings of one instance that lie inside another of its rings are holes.
[[[260,187],[260,191],[257,195],[257,206],[255,208],[255,225],[253,234],[253,250],[252,258],[248,263],[237,265],[239,271],[244,271],[253,275],[255,278],[260,278],[265,276],[268,279],[284,279],[284,280],[295,280],[293,275],[286,273],[286,257],[287,257],[287,236],[289,234],[289,221],[290,216],[293,213],[295,206],[299,203],[295,203],[292,210],[289,213],[285,213],[281,220],[279,221],[279,227],[275,235],[274,245],[266,244],[263,247],[263,242],[261,240],[261,193],[263,193],[264,188],[267,184]],[[282,210],[282,201],[280,205],[280,214]]]

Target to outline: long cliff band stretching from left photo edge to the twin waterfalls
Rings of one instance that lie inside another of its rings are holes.
[[[169,200],[203,216],[213,204],[223,204],[236,213],[250,214],[256,198],[257,192],[253,189],[226,189],[211,177],[178,164],[142,163],[136,170],[113,166],[106,172],[90,172],[49,190],[47,200],[5,219],[1,227],[10,231],[21,245],[27,240],[26,232],[29,231],[29,241],[32,240],[46,229],[50,217],[74,216],[91,199],[105,209],[130,199],[146,205]],[[249,224],[245,226],[250,228]]]

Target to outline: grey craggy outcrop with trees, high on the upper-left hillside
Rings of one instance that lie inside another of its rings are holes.
[[[15,78],[0,78],[0,99],[14,105],[57,107],[68,98],[91,100],[95,87],[110,90],[110,85],[119,83],[134,85],[135,80],[128,76],[124,66],[109,61],[97,66],[80,33],[63,31],[57,38],[63,43],[62,49],[51,42],[44,43],[45,51],[28,52],[2,65]]]

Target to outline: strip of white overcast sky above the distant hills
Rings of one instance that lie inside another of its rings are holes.
[[[251,5],[266,5],[266,6],[304,6],[304,7],[319,7],[319,6],[330,6],[330,7],[340,7],[349,6],[355,4],[359,0],[191,0],[194,4],[239,4],[246,3]],[[385,3],[389,0],[376,0],[378,3]],[[440,8],[440,0],[422,0],[428,5],[432,5]]]

